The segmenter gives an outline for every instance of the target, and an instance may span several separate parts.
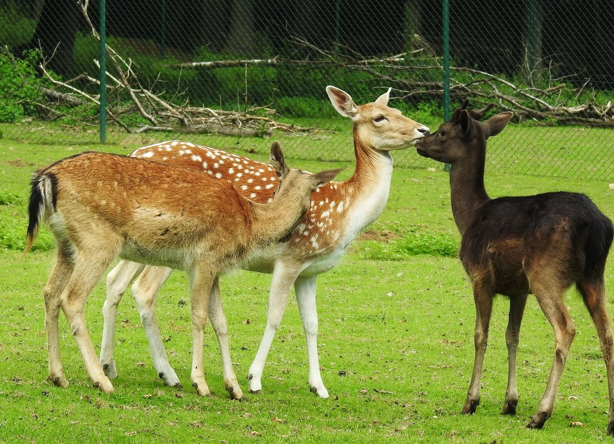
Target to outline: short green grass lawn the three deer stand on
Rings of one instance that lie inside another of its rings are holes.
[[[308,138],[303,140],[308,148]],[[265,159],[270,142],[253,143],[258,149],[249,156]],[[157,314],[169,360],[184,388],[169,388],[157,378],[129,294],[118,318],[115,393],[93,388],[63,315],[61,351],[71,385],[66,389],[50,385],[42,288],[52,267],[52,239],[48,232],[42,233],[39,250],[23,258],[18,250],[25,239],[30,174],[79,151],[128,153],[134,147],[32,145],[0,139],[0,232],[4,236],[0,238],[4,246],[0,250],[0,442],[585,443],[610,439],[605,435],[604,362],[590,316],[575,290],[565,296],[565,303],[577,335],[545,428],[525,427],[545,389],[554,353],[553,331],[534,297],[527,302],[518,351],[518,415],[500,415],[507,383],[508,304],[504,297],[498,297],[494,305],[480,407],[475,415],[461,415],[473,365],[475,308],[470,284],[454,255],[416,254],[421,249],[432,251],[427,248],[432,243],[457,248],[460,239],[449,207],[447,174],[434,161],[395,170],[384,213],[341,264],[318,280],[319,354],[330,399],[309,392],[305,339],[293,300],[265,367],[263,394],[247,394],[241,402],[229,399],[217,340],[207,327],[204,366],[214,395],[196,396],[190,386],[190,308],[180,303],[188,300],[187,280],[181,272],[163,287]],[[403,155],[415,155],[411,151]],[[291,156],[287,161],[303,169],[332,167]],[[342,178],[351,173],[352,166]],[[579,191],[614,217],[614,189],[608,185],[523,175],[486,178],[492,197]],[[410,243],[417,249],[406,250]],[[221,282],[231,354],[244,392],[243,378],[264,331],[269,283],[270,275],[242,271]],[[613,294],[612,258],[606,284],[608,294]],[[86,312],[97,348],[103,302],[101,281],[88,299]]]

